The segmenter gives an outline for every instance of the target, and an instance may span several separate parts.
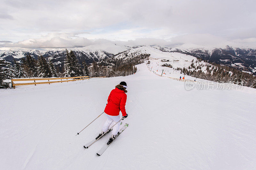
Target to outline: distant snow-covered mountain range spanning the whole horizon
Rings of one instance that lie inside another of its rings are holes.
[[[140,46],[141,47],[141,46]],[[73,50],[77,56],[80,63],[85,61],[87,63],[92,63],[93,61],[100,61],[113,57],[118,53],[127,51],[127,54],[134,53],[148,53],[147,50],[144,51],[140,47],[129,47],[129,46],[119,46],[113,43],[99,43],[85,47],[79,48],[68,48],[68,50]],[[150,46],[144,46],[150,47]],[[244,72],[250,72],[256,74],[256,49],[251,48],[233,48],[226,46],[225,48],[213,48],[208,46],[198,46],[194,44],[183,44],[177,47],[168,46],[151,46],[152,49],[158,49],[161,52],[176,52],[182,54],[188,54],[197,58],[202,58],[208,62],[215,62],[217,64],[223,64],[230,67],[235,67]],[[51,59],[55,66],[63,66],[65,59],[65,49],[10,49],[5,51],[0,51],[0,57],[7,61],[12,62],[13,59],[20,60],[27,53],[33,56],[35,59],[42,55],[46,58]]]

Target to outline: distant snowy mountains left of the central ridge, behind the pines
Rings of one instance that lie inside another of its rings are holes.
[[[92,63],[93,61],[99,61],[105,58],[109,58],[114,56],[117,53],[129,50],[128,46],[117,46],[111,43],[104,44],[95,44],[85,47],[79,48],[67,48],[68,50],[73,50],[78,60],[82,63],[85,61],[87,63]],[[5,51],[1,51],[0,57],[5,60],[12,62],[13,59],[20,61],[22,57],[25,57],[26,54],[30,54],[32,57],[37,59],[40,55],[46,58],[52,59],[54,64],[57,66],[58,64],[64,62],[66,56],[66,49],[20,49],[13,48]]]

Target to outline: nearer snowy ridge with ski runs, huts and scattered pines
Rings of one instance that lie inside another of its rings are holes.
[[[176,76],[173,74],[179,74],[178,77],[183,77],[184,75],[189,75],[194,77],[193,80],[201,78],[217,82],[232,81],[234,83],[243,83],[247,87],[252,87],[255,81],[252,75],[242,73],[232,67],[211,64],[200,58],[202,57],[196,57],[191,51],[188,52],[188,49],[140,46],[102,60],[99,63],[103,66],[115,66],[117,61],[123,61],[124,63],[132,63],[131,61],[133,61],[133,63],[139,64],[149,60],[150,71],[164,76],[173,77]],[[136,61],[139,62],[136,63]],[[241,65],[241,67],[243,66]]]

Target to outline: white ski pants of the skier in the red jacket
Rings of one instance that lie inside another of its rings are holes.
[[[109,129],[109,126],[113,123],[116,124],[116,122],[118,122],[121,118],[120,116],[110,116],[108,114],[105,113],[105,115],[107,116],[107,121],[105,122],[105,124],[102,127],[102,131],[106,132]],[[112,130],[112,135],[116,135],[119,129],[119,126],[121,124],[121,121],[118,122]]]

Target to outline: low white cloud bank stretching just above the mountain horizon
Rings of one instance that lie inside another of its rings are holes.
[[[227,45],[233,47],[256,47],[256,38],[248,39],[234,39],[228,40],[219,36],[213,36],[211,34],[187,34],[176,36],[170,39],[156,39],[156,38],[138,38],[134,40],[120,41],[120,40],[108,40],[108,39],[87,39],[84,37],[78,37],[78,35],[84,32],[77,33],[65,33],[65,32],[52,32],[44,35],[42,38],[26,39],[19,42],[0,41],[2,44],[0,47],[18,47],[18,48],[73,48],[84,47],[94,44],[115,44],[119,46],[179,46],[183,44],[195,44],[199,46],[210,47],[225,47]],[[87,34],[87,33],[86,33]],[[188,46],[189,47],[189,46]]]

